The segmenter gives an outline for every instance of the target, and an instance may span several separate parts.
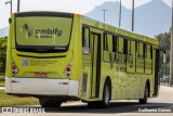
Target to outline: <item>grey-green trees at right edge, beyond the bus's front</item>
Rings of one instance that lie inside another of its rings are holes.
[[[161,66],[161,74],[169,75],[170,74],[170,50],[171,50],[171,31],[159,34],[156,36],[156,38],[159,40],[159,49],[165,51],[167,55],[167,63]],[[162,57],[161,62],[162,63]]]

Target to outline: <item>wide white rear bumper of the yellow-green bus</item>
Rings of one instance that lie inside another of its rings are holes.
[[[40,96],[78,96],[79,81],[69,79],[5,78],[5,92]]]

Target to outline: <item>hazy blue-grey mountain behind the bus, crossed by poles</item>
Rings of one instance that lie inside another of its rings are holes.
[[[103,9],[106,9],[106,23],[118,26],[119,2],[105,2],[85,15],[103,22]],[[122,7],[121,27],[131,30],[132,11]],[[147,36],[156,36],[168,31],[171,27],[171,8],[161,0],[152,0],[135,8],[134,31]]]

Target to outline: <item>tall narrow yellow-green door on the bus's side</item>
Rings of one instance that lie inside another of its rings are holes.
[[[90,98],[98,98],[101,79],[101,35],[91,33]]]

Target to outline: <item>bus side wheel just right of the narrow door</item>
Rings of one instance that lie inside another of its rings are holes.
[[[101,102],[102,107],[108,107],[110,104],[110,88],[109,82],[106,82],[104,86],[103,100]]]

